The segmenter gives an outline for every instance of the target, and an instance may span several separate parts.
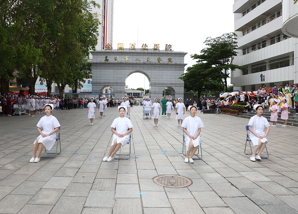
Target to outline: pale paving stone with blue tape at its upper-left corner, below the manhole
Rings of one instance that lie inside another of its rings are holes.
[[[164,191],[152,191],[142,195],[143,207],[171,207]]]

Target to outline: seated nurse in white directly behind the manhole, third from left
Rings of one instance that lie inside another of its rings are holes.
[[[197,107],[189,106],[188,110],[190,112],[190,116],[186,117],[182,123],[183,132],[186,134],[185,136],[185,144],[186,144],[186,157],[185,163],[194,163],[192,156],[194,156],[195,152],[201,145],[201,128],[204,127],[204,124],[201,118],[196,116]]]

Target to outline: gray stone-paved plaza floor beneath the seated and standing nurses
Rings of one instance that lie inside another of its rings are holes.
[[[108,108],[104,118],[96,112],[93,126],[87,109],[55,111],[62,152],[38,163],[29,160],[36,124],[45,114],[1,116],[0,213],[298,213],[297,128],[270,127],[269,158],[252,162],[244,154],[248,119],[198,112],[205,125],[203,158],[189,164],[175,115],[160,117],[154,127],[142,110],[131,108],[133,156],[112,162],[102,158],[117,108]],[[126,145],[121,153],[128,150]],[[181,175],[193,183],[162,187],[152,180],[157,175]]]

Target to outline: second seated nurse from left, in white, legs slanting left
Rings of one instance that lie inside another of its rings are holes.
[[[104,157],[102,161],[112,161],[113,156],[120,149],[121,145],[123,147],[127,144],[129,141],[129,133],[132,132],[132,122],[127,117],[124,117],[124,114],[127,111],[126,106],[118,106],[118,111],[120,117],[116,118],[111,125],[111,130],[114,133],[112,145],[109,154]]]

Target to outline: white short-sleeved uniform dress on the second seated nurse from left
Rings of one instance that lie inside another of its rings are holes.
[[[128,131],[128,129],[132,128],[133,126],[132,126],[132,122],[127,117],[118,117],[113,121],[111,127],[116,128],[117,133],[125,134]],[[120,138],[116,134],[113,134],[111,146],[114,145],[115,139],[117,139],[117,144],[121,143],[123,147],[129,141],[129,135],[126,135],[123,138]]]

